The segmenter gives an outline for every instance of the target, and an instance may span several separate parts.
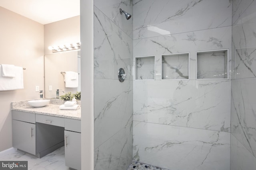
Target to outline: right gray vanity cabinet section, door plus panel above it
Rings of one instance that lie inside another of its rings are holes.
[[[81,170],[81,121],[65,119],[65,163]]]

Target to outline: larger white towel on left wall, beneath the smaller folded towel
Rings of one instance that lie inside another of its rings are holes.
[[[0,65],[0,67],[2,67]],[[0,68],[0,91],[5,90],[16,90],[23,89],[23,68],[15,66],[15,77],[3,77],[2,76],[2,68]]]

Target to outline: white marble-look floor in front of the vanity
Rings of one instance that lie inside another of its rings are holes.
[[[31,154],[25,154],[17,149],[11,148],[0,152],[1,161],[28,161],[28,170],[68,170],[65,166],[65,150],[61,147],[52,153],[37,158]]]

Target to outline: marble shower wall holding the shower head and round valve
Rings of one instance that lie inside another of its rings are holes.
[[[94,170],[132,162],[132,19],[119,8],[132,14],[132,1],[94,0]]]

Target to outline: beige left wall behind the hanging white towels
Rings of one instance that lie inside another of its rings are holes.
[[[24,89],[0,91],[0,151],[12,147],[10,103],[39,98],[44,89],[44,25],[0,7],[0,64],[24,70]]]

